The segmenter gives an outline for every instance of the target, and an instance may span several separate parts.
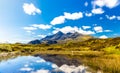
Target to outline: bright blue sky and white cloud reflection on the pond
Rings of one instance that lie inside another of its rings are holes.
[[[0,73],[87,73],[84,66],[58,67],[52,62],[40,57],[19,56],[14,59],[0,62]]]

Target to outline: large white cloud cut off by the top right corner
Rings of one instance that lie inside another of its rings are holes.
[[[119,0],[94,0],[92,3],[94,7],[95,6],[99,6],[99,7],[106,6],[108,8],[114,8],[120,4],[120,1]]]

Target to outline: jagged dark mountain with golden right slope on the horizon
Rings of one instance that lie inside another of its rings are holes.
[[[29,44],[41,44],[41,43],[56,44],[56,43],[65,43],[66,41],[83,41],[90,38],[93,38],[93,37],[89,35],[83,35],[78,32],[65,34],[59,31],[56,34],[46,36],[41,40],[30,41]]]

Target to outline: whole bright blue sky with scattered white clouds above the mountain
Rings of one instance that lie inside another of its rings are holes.
[[[120,0],[0,0],[0,42],[28,42],[62,31],[120,36]]]

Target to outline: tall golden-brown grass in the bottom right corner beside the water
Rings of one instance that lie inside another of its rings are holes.
[[[94,70],[101,70],[104,73],[119,73],[120,72],[120,56],[114,55],[109,57],[94,57],[94,58],[84,58],[84,63],[87,66],[94,68]]]

